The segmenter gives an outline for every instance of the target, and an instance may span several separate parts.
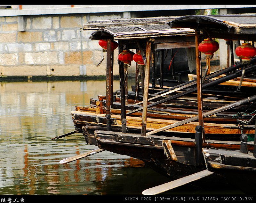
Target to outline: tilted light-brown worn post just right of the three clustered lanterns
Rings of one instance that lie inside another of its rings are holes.
[[[144,95],[143,95],[141,136],[146,136],[146,128],[147,128],[150,52],[151,52],[151,41],[147,41],[147,46],[146,46],[147,64],[145,66],[145,80],[144,80]]]

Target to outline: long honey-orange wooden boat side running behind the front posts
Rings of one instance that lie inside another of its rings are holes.
[[[88,122],[91,122],[92,125],[94,124],[106,124],[106,118],[104,114],[95,114],[91,112],[77,112],[77,111],[72,111],[71,112],[72,119],[74,124],[88,124]],[[112,125],[122,125],[121,121],[121,116],[120,115],[111,115],[111,123]],[[141,122],[142,119],[141,117],[134,117],[134,116],[127,116],[127,126],[137,126],[141,127]],[[164,130],[171,129],[174,131],[180,131],[180,132],[193,132],[195,133],[195,127],[198,125],[197,122],[192,122],[195,121],[195,117],[191,117],[190,120],[186,119],[183,120],[184,123],[180,123],[182,121],[177,121],[177,120],[160,120],[160,119],[153,119],[153,118],[148,118],[147,119],[147,128],[152,128],[156,129],[155,131],[151,131],[146,133],[147,135],[149,134],[154,134],[156,132],[160,132]],[[170,124],[172,125],[171,128]],[[205,133],[220,133],[220,134],[239,134],[241,133],[241,128],[239,128],[236,125],[232,124],[215,124],[215,123],[205,123]],[[175,127],[173,127],[175,126]],[[158,130],[160,129],[160,130]],[[254,134],[254,125],[253,126],[244,126],[243,128],[243,133],[245,134]]]

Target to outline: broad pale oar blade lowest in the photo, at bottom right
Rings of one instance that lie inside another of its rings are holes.
[[[186,176],[186,177],[183,177],[183,178],[179,178],[177,180],[173,180],[173,181],[168,182],[168,183],[164,183],[163,185],[158,185],[156,187],[149,188],[147,190],[144,190],[142,192],[142,194],[144,194],[144,195],[153,195],[153,194],[159,194],[159,193],[162,193],[162,192],[166,192],[168,190],[179,187],[181,185],[185,185],[187,183],[198,180],[200,178],[204,178],[205,176],[209,176],[211,174],[213,174],[213,172],[211,172],[209,170],[203,170],[203,171],[194,173],[192,175],[189,175],[189,176]]]

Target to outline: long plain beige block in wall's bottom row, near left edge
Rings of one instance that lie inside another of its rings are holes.
[[[5,76],[46,76],[46,66],[6,66]]]

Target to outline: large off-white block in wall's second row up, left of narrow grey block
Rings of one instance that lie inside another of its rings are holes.
[[[56,52],[32,52],[25,53],[25,63],[28,65],[51,65],[58,64]]]

